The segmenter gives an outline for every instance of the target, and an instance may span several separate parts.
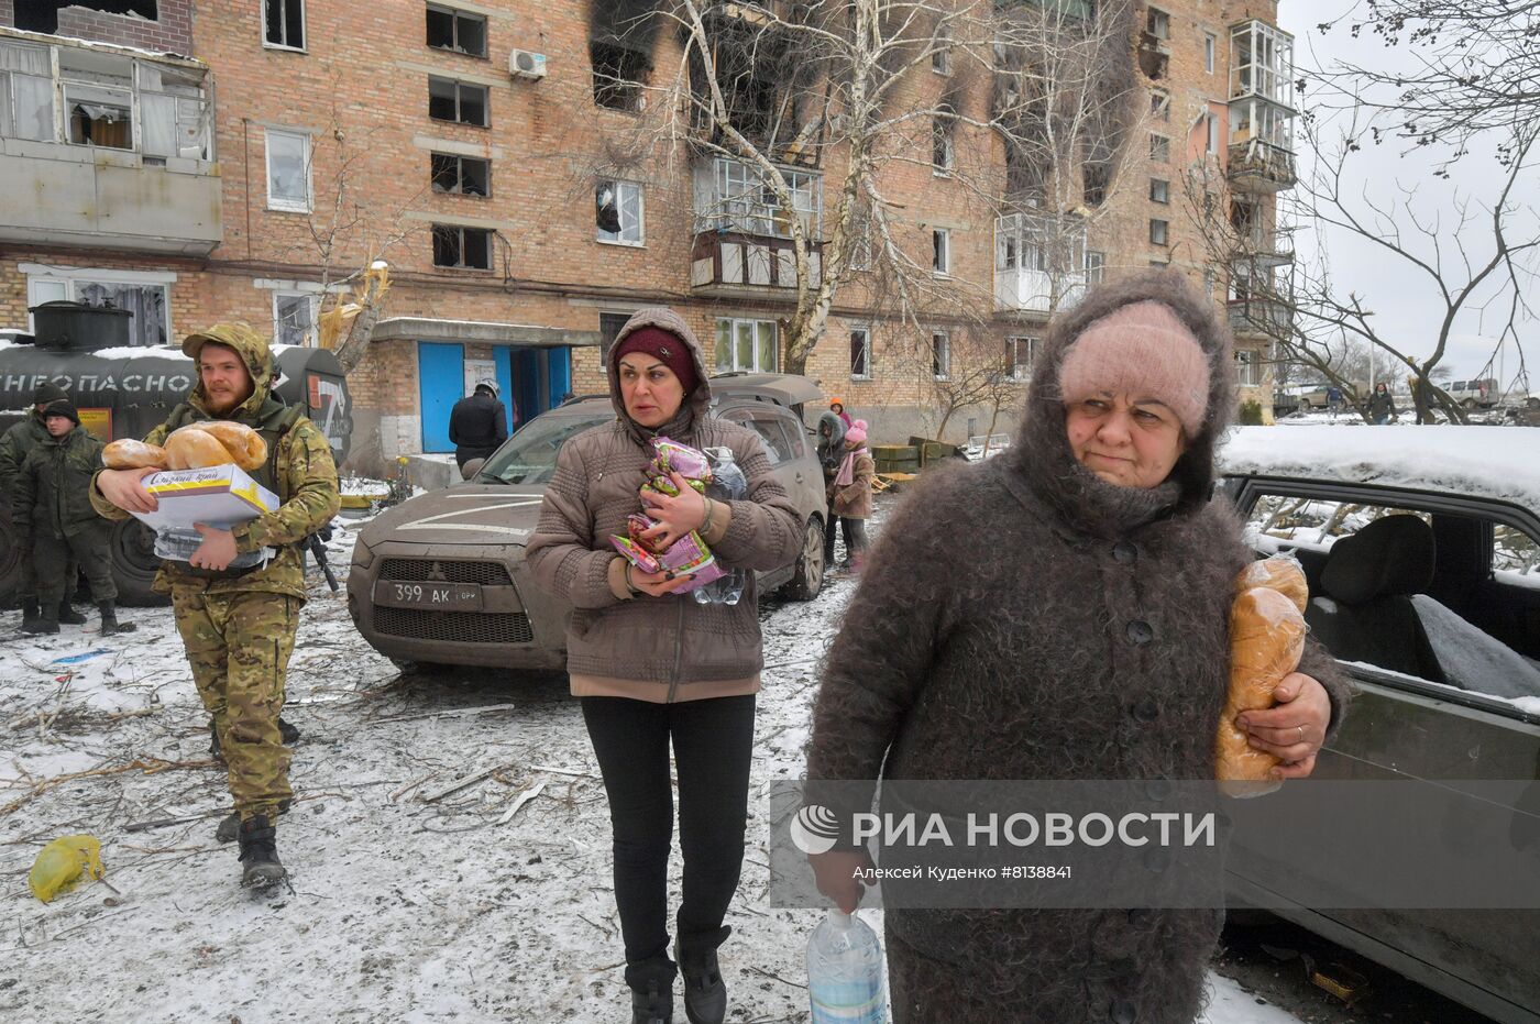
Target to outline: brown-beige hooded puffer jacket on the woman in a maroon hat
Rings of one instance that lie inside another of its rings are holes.
[[[676,334],[688,346],[701,380],[675,420],[658,431],[639,427],[625,414],[613,356],[641,326],[661,326]],[[768,571],[795,561],[804,539],[796,508],[770,474],[759,436],[708,414],[711,385],[701,345],[671,310],[638,311],[610,351],[610,397],[616,419],[562,445],[539,525],[525,548],[539,585],[573,605],[567,625],[567,670],[574,678],[607,681],[604,693],[654,702],[719,696],[721,688],[713,688],[713,682],[752,681],[758,685],[764,654],[753,577],[736,605],[702,605],[690,594],[622,601],[610,588],[610,562],[619,557],[610,536],[625,536],[627,516],[642,511],[639,491],[653,456],[647,443],[653,436],[696,448],[725,445],[733,450],[748,480],[748,499],[732,502],[727,534],[713,545],[722,564]],[[576,685],[574,691],[585,693]]]

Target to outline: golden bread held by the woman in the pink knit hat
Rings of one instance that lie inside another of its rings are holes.
[[[1261,796],[1281,785],[1267,778],[1278,758],[1252,747],[1235,716],[1270,708],[1277,702],[1274,690],[1300,667],[1309,588],[1298,562],[1289,557],[1252,562],[1235,585],[1240,594],[1230,605],[1230,687],[1215,739],[1215,778],[1230,796]]]

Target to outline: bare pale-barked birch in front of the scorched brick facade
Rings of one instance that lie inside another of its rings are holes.
[[[952,179],[975,222],[1030,212],[1043,222],[1044,268],[1056,271],[1046,311],[1070,300],[1084,283],[1086,223],[1116,185],[1140,114],[1132,9],[1132,0],[614,5],[591,31],[594,99],[633,117],[602,122],[598,156],[573,159],[574,180],[639,168],[656,180],[656,168],[687,163],[668,177],[693,182],[693,263],[715,280],[785,289],[782,368],[805,370],[836,297],[906,323],[924,362],[933,317],[984,323],[996,299],[989,282],[949,273],[944,239],[926,231],[930,211],[906,208],[898,177]],[[651,51],[664,31],[679,42],[673,66],[621,52]],[[1083,166],[1093,168],[1089,203]]]

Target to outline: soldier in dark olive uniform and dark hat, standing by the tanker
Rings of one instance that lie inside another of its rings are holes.
[[[117,584],[108,551],[111,528],[88,497],[106,445],[86,433],[75,407],[65,399],[43,410],[43,427],[48,439],[26,453],[11,491],[11,522],[32,539],[31,562],[42,604],[42,614],[22,630],[59,633],[59,608],[72,582],[68,573],[79,559],[91,581],[91,601],[102,611],[102,633],[129,633],[134,627],[119,625],[112,605]]]

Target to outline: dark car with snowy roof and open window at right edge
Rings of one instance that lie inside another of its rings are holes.
[[[1522,427],[1246,427],[1221,451],[1247,540],[1298,557],[1306,622],[1355,682],[1314,779],[1415,787],[1418,807],[1446,812],[1417,835],[1471,873],[1491,850],[1469,847],[1477,835],[1528,847],[1540,873],[1534,442]],[[1488,796],[1494,781],[1515,784],[1508,799]],[[1492,1019],[1540,1021],[1540,910],[1311,905],[1300,893],[1332,862],[1264,864],[1238,832],[1232,907],[1270,909]]]

